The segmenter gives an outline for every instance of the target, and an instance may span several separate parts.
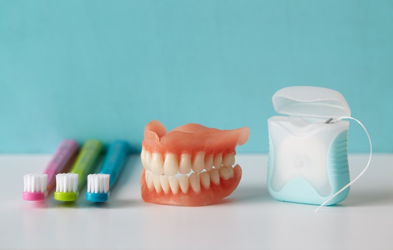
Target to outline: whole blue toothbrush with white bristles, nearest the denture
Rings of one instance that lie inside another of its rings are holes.
[[[86,200],[93,202],[108,200],[112,186],[125,165],[128,151],[129,145],[126,141],[116,140],[112,142],[100,173],[87,175]]]

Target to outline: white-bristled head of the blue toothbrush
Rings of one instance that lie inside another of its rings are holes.
[[[89,174],[87,175],[86,200],[93,202],[104,202],[109,196],[110,174]]]

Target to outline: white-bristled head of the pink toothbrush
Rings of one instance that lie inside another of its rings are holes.
[[[24,189],[22,198],[24,200],[40,201],[48,195],[47,182],[48,175],[35,173],[23,176]]]

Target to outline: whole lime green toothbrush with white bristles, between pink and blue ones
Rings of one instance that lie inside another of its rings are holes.
[[[87,174],[94,169],[102,144],[98,140],[87,140],[69,173],[56,175],[55,199],[74,201],[84,186]]]

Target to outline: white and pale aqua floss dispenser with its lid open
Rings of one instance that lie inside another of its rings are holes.
[[[320,87],[283,88],[273,96],[278,113],[268,119],[269,193],[277,200],[322,204],[349,182],[348,121],[344,97]],[[289,116],[288,116],[289,115]],[[327,205],[346,198],[349,188]]]

